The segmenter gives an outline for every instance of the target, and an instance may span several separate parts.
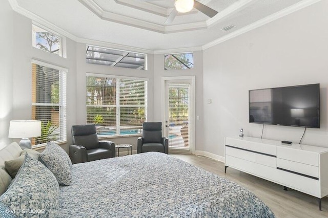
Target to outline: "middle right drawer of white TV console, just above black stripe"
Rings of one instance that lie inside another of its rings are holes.
[[[319,167],[277,158],[277,167],[301,175],[319,178]]]

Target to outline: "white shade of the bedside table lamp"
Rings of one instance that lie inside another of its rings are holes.
[[[41,136],[41,121],[39,120],[11,120],[9,138],[32,138]]]

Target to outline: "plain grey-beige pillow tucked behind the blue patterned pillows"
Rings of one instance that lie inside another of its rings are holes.
[[[9,173],[9,175],[11,176],[11,178],[15,178],[20,166],[22,166],[22,164],[24,162],[24,158],[25,158],[26,154],[28,154],[30,157],[37,160],[40,153],[37,152],[36,150],[24,149],[22,151],[22,154],[20,154],[20,156],[18,158],[9,160],[9,161],[5,161],[6,169]]]

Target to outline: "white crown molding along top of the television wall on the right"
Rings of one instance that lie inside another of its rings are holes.
[[[211,42],[203,45],[202,46],[202,50],[209,49],[209,48],[211,48],[213,46],[216,46],[216,45],[218,45],[218,44],[220,44],[220,43],[222,43],[224,41],[227,41],[229,39],[232,39],[232,38],[234,38],[236,36],[239,36],[239,35],[241,35],[243,33],[247,33],[247,32],[249,32],[251,30],[254,30],[254,29],[258,28],[258,27],[261,27],[261,26],[263,26],[265,24],[268,24],[268,23],[270,23],[270,22],[272,22],[272,21],[274,21],[276,19],[279,19],[279,18],[281,18],[283,16],[289,15],[289,14],[291,14],[293,12],[296,12],[296,11],[298,11],[300,9],[303,9],[305,7],[308,7],[310,5],[313,5],[313,4],[315,4],[317,2],[320,2],[320,1],[322,1],[322,0],[303,0],[303,1],[299,2],[299,3],[296,3],[296,4],[288,7],[288,8],[282,9],[282,10],[280,10],[280,11],[274,13],[274,14],[271,14],[270,16],[264,17],[263,19],[260,19],[260,20],[258,20],[256,22],[254,22],[253,24],[250,24],[250,25],[248,25],[246,27],[240,28],[240,29],[238,29],[238,30],[236,30],[236,31],[228,34],[228,35],[222,36],[222,37],[220,37],[220,38],[218,38],[218,39],[216,39],[214,41],[211,41]]]

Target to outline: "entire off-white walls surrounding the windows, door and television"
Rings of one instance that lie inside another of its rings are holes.
[[[67,59],[32,48],[32,21],[13,12],[6,2],[0,9],[1,27],[8,33],[0,35],[7,51],[0,58],[4,69],[0,86],[4,102],[0,107],[0,146],[11,141],[7,137],[11,119],[31,118],[32,58],[69,69],[68,144],[71,126],[85,123],[85,74],[90,72],[149,78],[149,121],[161,120],[161,78],[195,75],[195,115],[200,117],[195,120],[196,150],[219,156],[224,156],[224,137],[237,135],[241,127],[245,135],[260,137],[262,126],[248,123],[248,90],[319,82],[321,128],[308,129],[303,143],[328,146],[327,6],[327,1],[321,1],[203,52],[194,52],[192,70],[165,71],[163,55],[156,54],[148,56],[148,71],[137,71],[87,64],[86,45],[70,39]],[[207,103],[209,98],[211,104]],[[302,133],[303,128],[266,125],[263,137],[298,142]],[[136,137],[111,140],[130,143],[136,149]],[[64,147],[67,150],[67,145]]]

